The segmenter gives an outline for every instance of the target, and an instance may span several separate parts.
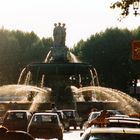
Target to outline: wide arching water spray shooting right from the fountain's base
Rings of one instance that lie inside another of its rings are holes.
[[[77,89],[75,94],[76,97],[78,97],[76,98],[77,101],[81,99],[81,97],[84,100],[84,96],[86,95],[91,97],[91,101],[95,101],[92,97],[93,95],[96,95],[94,96],[96,97],[96,101],[118,102],[116,109],[121,110],[126,114],[140,113],[140,102],[128,94],[116,89],[89,86]]]

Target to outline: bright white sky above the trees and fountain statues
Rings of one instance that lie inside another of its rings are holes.
[[[66,24],[66,46],[107,28],[136,29],[140,16],[133,11],[121,22],[120,10],[110,9],[117,0],[0,0],[0,28],[35,32],[40,38],[53,37],[54,23]]]

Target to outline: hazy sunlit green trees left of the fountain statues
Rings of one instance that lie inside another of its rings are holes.
[[[21,70],[31,62],[42,62],[51,38],[40,39],[34,32],[0,30],[0,85],[16,83]]]

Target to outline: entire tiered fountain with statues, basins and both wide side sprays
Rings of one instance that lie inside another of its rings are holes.
[[[93,107],[139,113],[140,103],[136,99],[116,89],[99,86],[96,69],[79,62],[65,45],[65,24],[54,26],[54,44],[45,60],[27,65],[17,85],[0,88],[1,105],[37,111],[51,109],[55,104],[58,109],[77,109],[80,114]],[[10,99],[10,104],[3,102],[4,99]]]

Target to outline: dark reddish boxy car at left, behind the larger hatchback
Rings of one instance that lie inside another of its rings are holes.
[[[27,131],[31,116],[28,110],[8,110],[4,115],[2,126],[8,130]]]

